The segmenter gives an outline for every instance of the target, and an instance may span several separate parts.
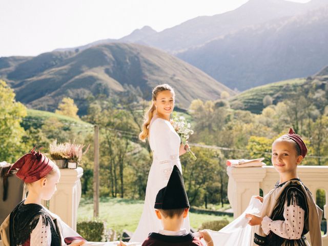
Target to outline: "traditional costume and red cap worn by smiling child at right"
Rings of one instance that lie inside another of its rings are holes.
[[[305,157],[308,149],[293,129],[281,136],[296,142],[300,155]],[[300,179],[277,182],[263,199],[259,214],[262,223],[255,228],[254,242],[258,245],[307,246],[305,234],[310,232],[311,244],[322,245],[320,221],[322,210]]]

